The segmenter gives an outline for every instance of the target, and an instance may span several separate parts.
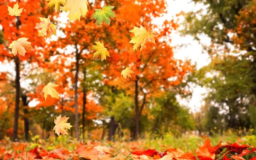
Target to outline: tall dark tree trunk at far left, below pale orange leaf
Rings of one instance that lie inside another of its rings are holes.
[[[20,18],[17,17],[16,28],[20,28]],[[18,123],[19,123],[19,110],[20,110],[20,59],[15,56],[15,113],[14,113],[14,126],[13,126],[13,141],[18,140]]]

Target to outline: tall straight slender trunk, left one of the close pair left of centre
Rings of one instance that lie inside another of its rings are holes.
[[[76,48],[76,75],[75,75],[75,137],[79,140],[79,115],[78,115],[78,73],[79,73],[79,52]]]

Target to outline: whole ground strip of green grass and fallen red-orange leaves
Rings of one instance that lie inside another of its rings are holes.
[[[213,137],[171,134],[154,140],[76,142],[60,136],[47,141],[0,141],[0,160],[256,160],[256,137],[235,135]]]

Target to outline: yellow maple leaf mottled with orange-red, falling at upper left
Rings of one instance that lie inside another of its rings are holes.
[[[55,24],[50,22],[50,18],[39,17],[40,23],[36,23],[35,29],[38,29],[38,37],[45,36],[46,38],[51,37],[52,34],[56,35]]]

